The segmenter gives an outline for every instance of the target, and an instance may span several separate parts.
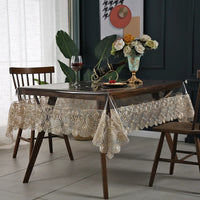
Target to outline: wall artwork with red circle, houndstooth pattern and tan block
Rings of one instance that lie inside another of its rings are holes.
[[[143,0],[99,0],[101,39],[116,34],[143,34]]]

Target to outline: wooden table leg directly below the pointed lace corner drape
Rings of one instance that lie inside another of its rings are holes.
[[[103,195],[104,199],[108,199],[108,178],[107,178],[107,167],[106,167],[106,154],[101,153],[101,170],[103,180]]]

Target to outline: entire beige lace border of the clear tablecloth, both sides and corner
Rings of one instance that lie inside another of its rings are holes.
[[[194,111],[188,94],[161,98],[160,100],[117,106],[107,99],[110,114],[99,110],[96,101],[60,98],[55,106],[41,98],[13,102],[10,106],[6,136],[12,138],[13,130],[32,129],[54,134],[93,136],[93,144],[100,152],[112,158],[127,143],[128,133],[167,121],[191,120]]]

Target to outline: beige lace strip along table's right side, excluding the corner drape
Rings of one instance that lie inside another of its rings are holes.
[[[189,95],[177,95],[117,109],[125,129],[130,132],[173,121],[191,121],[194,110]]]

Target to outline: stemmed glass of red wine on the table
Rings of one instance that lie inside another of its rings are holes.
[[[78,71],[81,70],[83,65],[82,56],[74,55],[71,57],[71,68],[75,72],[75,83],[74,86],[78,86]]]

